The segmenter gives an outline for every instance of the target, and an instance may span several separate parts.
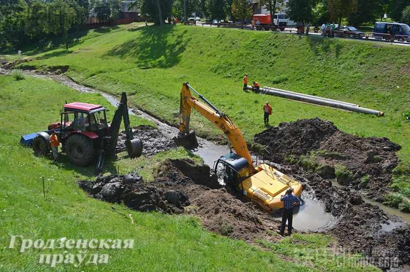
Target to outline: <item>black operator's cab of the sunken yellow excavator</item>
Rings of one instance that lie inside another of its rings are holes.
[[[237,188],[243,180],[250,176],[249,162],[238,154],[231,152],[225,156],[221,156],[215,163],[215,173],[219,163],[225,168],[223,176],[225,184],[231,184],[233,187]]]

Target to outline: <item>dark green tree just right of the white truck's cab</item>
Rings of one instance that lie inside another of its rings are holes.
[[[295,22],[311,22],[316,0],[289,0],[286,16]]]

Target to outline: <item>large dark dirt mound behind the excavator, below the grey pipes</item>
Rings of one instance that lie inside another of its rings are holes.
[[[392,179],[392,170],[400,159],[396,151],[401,147],[387,138],[360,138],[347,134],[327,121],[318,118],[280,123],[255,135],[255,142],[267,146],[265,159],[286,163],[290,156],[313,154],[311,168],[325,179],[336,178],[340,184],[365,189],[367,196],[383,201]],[[340,170],[341,169],[341,170]]]

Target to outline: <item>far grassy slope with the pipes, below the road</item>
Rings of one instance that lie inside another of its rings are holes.
[[[150,26],[77,43],[69,50],[39,54],[20,65],[45,70],[69,66],[74,80],[118,95],[162,120],[178,122],[179,90],[189,81],[228,113],[248,143],[265,129],[261,108],[273,106],[271,125],[303,118],[332,121],[360,137],[387,137],[399,143],[402,163],[395,170],[391,205],[410,198],[410,48],[364,41],[297,37],[236,29]],[[244,93],[241,78],[292,91],[354,102],[385,112],[383,118]],[[203,137],[224,140],[208,120],[193,112],[192,127]]]

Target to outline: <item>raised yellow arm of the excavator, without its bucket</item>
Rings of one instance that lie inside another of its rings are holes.
[[[199,101],[195,96],[191,94],[191,90],[194,91],[198,97],[203,101]],[[249,153],[248,146],[243,138],[239,128],[231,121],[228,115],[220,112],[214,105],[212,105],[206,98],[192,88],[188,82],[183,83],[181,89],[180,99],[180,123],[179,133],[177,139],[183,139],[189,137],[190,133],[189,123],[191,117],[191,108],[196,109],[200,114],[207,118],[212,124],[218,127],[227,135],[229,143],[235,149],[236,153],[246,159],[250,165],[251,173],[255,172],[251,154]]]

